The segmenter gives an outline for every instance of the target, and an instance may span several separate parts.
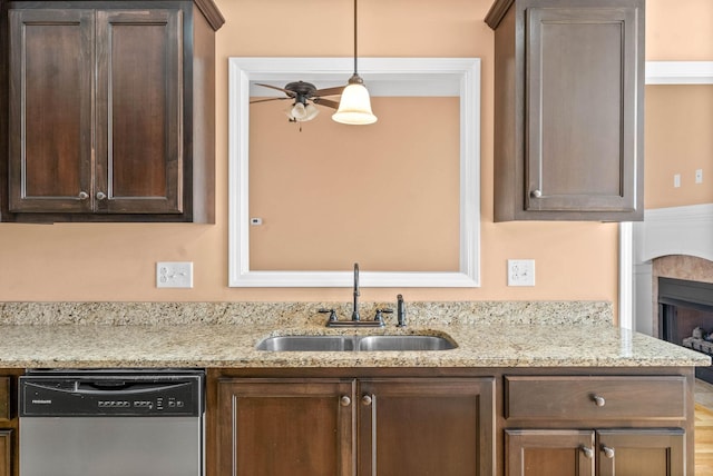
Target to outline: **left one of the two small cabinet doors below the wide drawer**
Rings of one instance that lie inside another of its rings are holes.
[[[594,438],[593,430],[507,429],[505,474],[594,476]]]

